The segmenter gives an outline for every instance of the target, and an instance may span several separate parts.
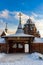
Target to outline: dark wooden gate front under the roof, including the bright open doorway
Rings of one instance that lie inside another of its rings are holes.
[[[8,50],[9,49],[9,50]],[[8,53],[29,53],[29,43],[26,41],[8,41]]]

